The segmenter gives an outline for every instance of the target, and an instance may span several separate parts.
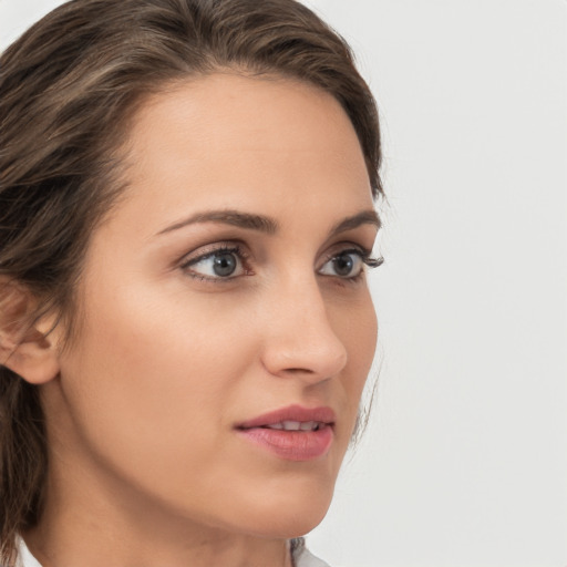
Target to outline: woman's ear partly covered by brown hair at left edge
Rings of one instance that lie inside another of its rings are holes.
[[[37,303],[29,290],[0,278],[0,364],[42,384],[59,374],[59,357],[50,334],[53,319],[31,319]]]

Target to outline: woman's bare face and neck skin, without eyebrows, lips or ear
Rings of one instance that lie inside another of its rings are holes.
[[[330,504],[375,348],[365,274],[330,261],[377,234],[329,237],[372,210],[357,135],[315,86],[217,73],[148,100],[126,150],[128,188],[84,259],[79,336],[50,336],[48,499],[25,540],[44,567],[289,566],[286,539]],[[278,228],[171,229],[216,209]],[[235,241],[241,269],[209,279],[195,259]],[[235,433],[290,404],[334,410],[326,455],[292,462]]]

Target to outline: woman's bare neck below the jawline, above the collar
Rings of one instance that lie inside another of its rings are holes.
[[[195,523],[120,488],[51,475],[41,520],[22,534],[42,567],[292,567],[286,539]]]

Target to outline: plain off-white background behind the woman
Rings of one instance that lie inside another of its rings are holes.
[[[0,48],[59,3],[0,0]],[[309,545],[566,567],[567,2],[306,3],[377,94],[389,195],[373,421]]]

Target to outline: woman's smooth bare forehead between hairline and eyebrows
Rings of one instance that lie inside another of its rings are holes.
[[[349,214],[372,203],[346,112],[330,94],[288,79],[218,73],[176,84],[142,105],[127,146],[128,184],[163,207],[236,202],[277,213],[292,199]]]

